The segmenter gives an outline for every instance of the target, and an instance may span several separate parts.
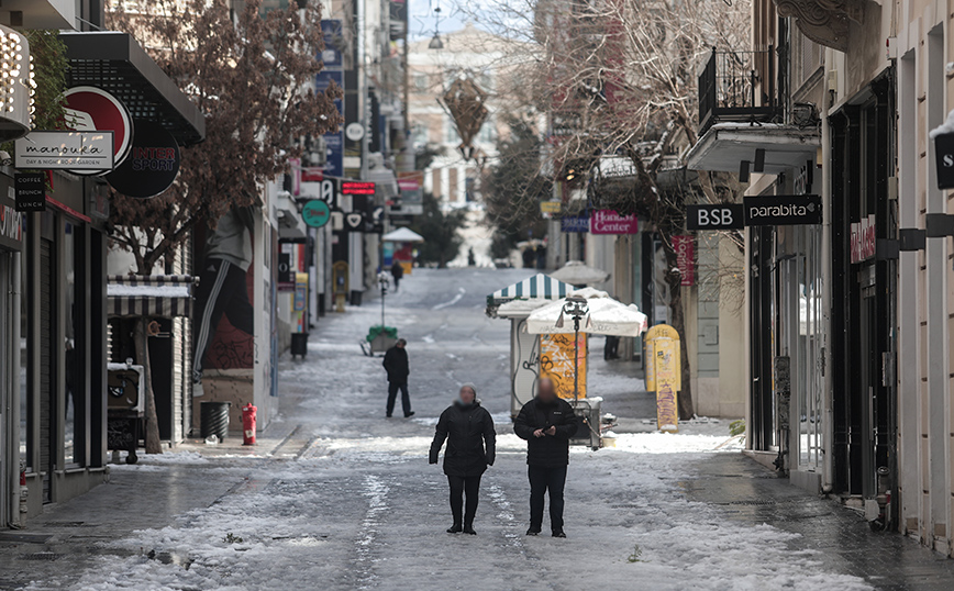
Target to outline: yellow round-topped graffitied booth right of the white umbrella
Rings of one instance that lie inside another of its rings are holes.
[[[656,424],[659,431],[679,430],[678,392],[683,389],[679,333],[666,324],[646,332],[646,389],[656,392]]]

